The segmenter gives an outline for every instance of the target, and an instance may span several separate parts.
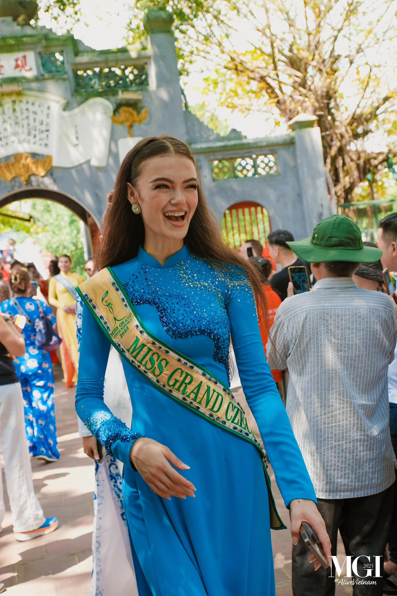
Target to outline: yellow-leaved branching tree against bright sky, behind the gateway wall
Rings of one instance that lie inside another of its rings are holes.
[[[39,0],[40,4],[40,0]],[[41,0],[73,13],[78,0]],[[324,162],[339,203],[348,202],[387,153],[397,154],[395,0],[136,0],[129,42],[143,35],[148,8],[175,17],[180,71],[201,68],[207,92],[243,112],[274,122],[301,112],[318,117]],[[73,9],[73,10],[72,10]],[[374,150],[374,137],[384,135]],[[388,138],[387,138],[387,135]],[[386,145],[389,145],[388,147]]]

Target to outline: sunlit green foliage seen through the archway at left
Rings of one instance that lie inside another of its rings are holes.
[[[43,199],[17,201],[3,212],[24,216],[30,213],[35,218],[33,224],[18,222],[15,219],[0,217],[0,233],[10,237],[17,235],[19,242],[32,236],[43,253],[56,256],[68,254],[73,262],[73,271],[84,275],[84,249],[80,219],[70,209]]]

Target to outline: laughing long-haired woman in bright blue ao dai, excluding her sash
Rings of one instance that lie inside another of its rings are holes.
[[[293,539],[305,520],[330,556],[314,489],[265,359],[253,293],[261,300],[261,281],[251,263],[222,243],[183,142],[143,139],[124,158],[97,263],[112,267],[157,344],[226,387],[232,338],[246,400],[290,508]],[[96,279],[85,287],[95,287]],[[96,290],[99,316],[107,293],[101,284]],[[124,464],[139,596],[274,596],[269,499],[257,448],[161,393],[124,359],[132,429],[112,415],[103,395],[110,342],[92,312],[85,302],[76,411],[95,449],[99,440]]]

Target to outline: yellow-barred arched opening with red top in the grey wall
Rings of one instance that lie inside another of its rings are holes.
[[[265,246],[270,233],[269,215],[261,206],[226,209],[221,221],[223,239],[232,249],[239,249],[247,240],[254,238]]]

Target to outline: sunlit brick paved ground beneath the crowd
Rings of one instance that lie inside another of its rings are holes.
[[[60,378],[58,368],[55,408],[61,458],[51,464],[32,462],[35,491],[44,513],[47,517],[57,516],[60,526],[48,536],[17,542],[7,511],[0,535],[0,582],[5,583],[10,596],[89,595],[93,465],[83,454],[77,433],[74,390],[66,390]],[[287,522],[288,515],[274,481],[273,486],[277,507]],[[5,499],[7,503],[7,494]],[[272,532],[272,541],[277,596],[292,596],[290,534]],[[351,592],[337,588],[337,596],[346,594]]]

